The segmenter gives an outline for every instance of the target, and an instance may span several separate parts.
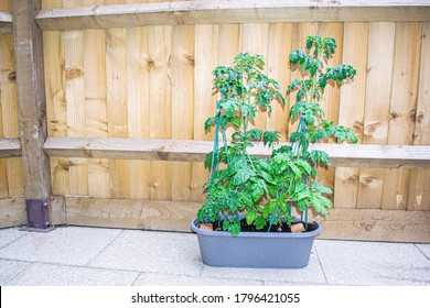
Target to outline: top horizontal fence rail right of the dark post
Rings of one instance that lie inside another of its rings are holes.
[[[42,30],[241,22],[429,21],[430,1],[178,1],[42,10]]]

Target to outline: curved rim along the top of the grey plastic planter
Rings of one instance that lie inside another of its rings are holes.
[[[239,232],[236,238],[313,238],[321,233],[321,224],[318,221],[312,221],[312,223],[316,224],[316,229],[310,232],[301,232],[301,233],[291,233],[291,232]],[[233,238],[233,235],[227,231],[206,231],[198,228],[200,222],[197,218],[194,218],[191,222],[191,229],[198,234],[202,235],[212,235],[212,237],[228,237]]]

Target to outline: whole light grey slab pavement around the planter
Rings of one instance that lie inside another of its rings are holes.
[[[0,230],[2,286],[430,286],[430,244],[315,240],[301,270],[217,268],[193,233]]]

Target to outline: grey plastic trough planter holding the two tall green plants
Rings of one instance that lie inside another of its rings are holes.
[[[197,233],[202,261],[209,266],[252,268],[301,268],[309,264],[313,240],[321,226],[311,232],[268,233],[240,232],[232,237],[225,231],[200,229],[194,219],[191,229]]]

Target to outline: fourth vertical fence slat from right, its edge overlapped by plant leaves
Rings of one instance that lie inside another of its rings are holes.
[[[346,22],[344,25],[342,63],[357,69],[354,81],[341,88],[338,124],[351,128],[363,142],[364,103],[368,47],[368,23]],[[336,167],[334,207],[354,209],[357,202],[359,168]]]

